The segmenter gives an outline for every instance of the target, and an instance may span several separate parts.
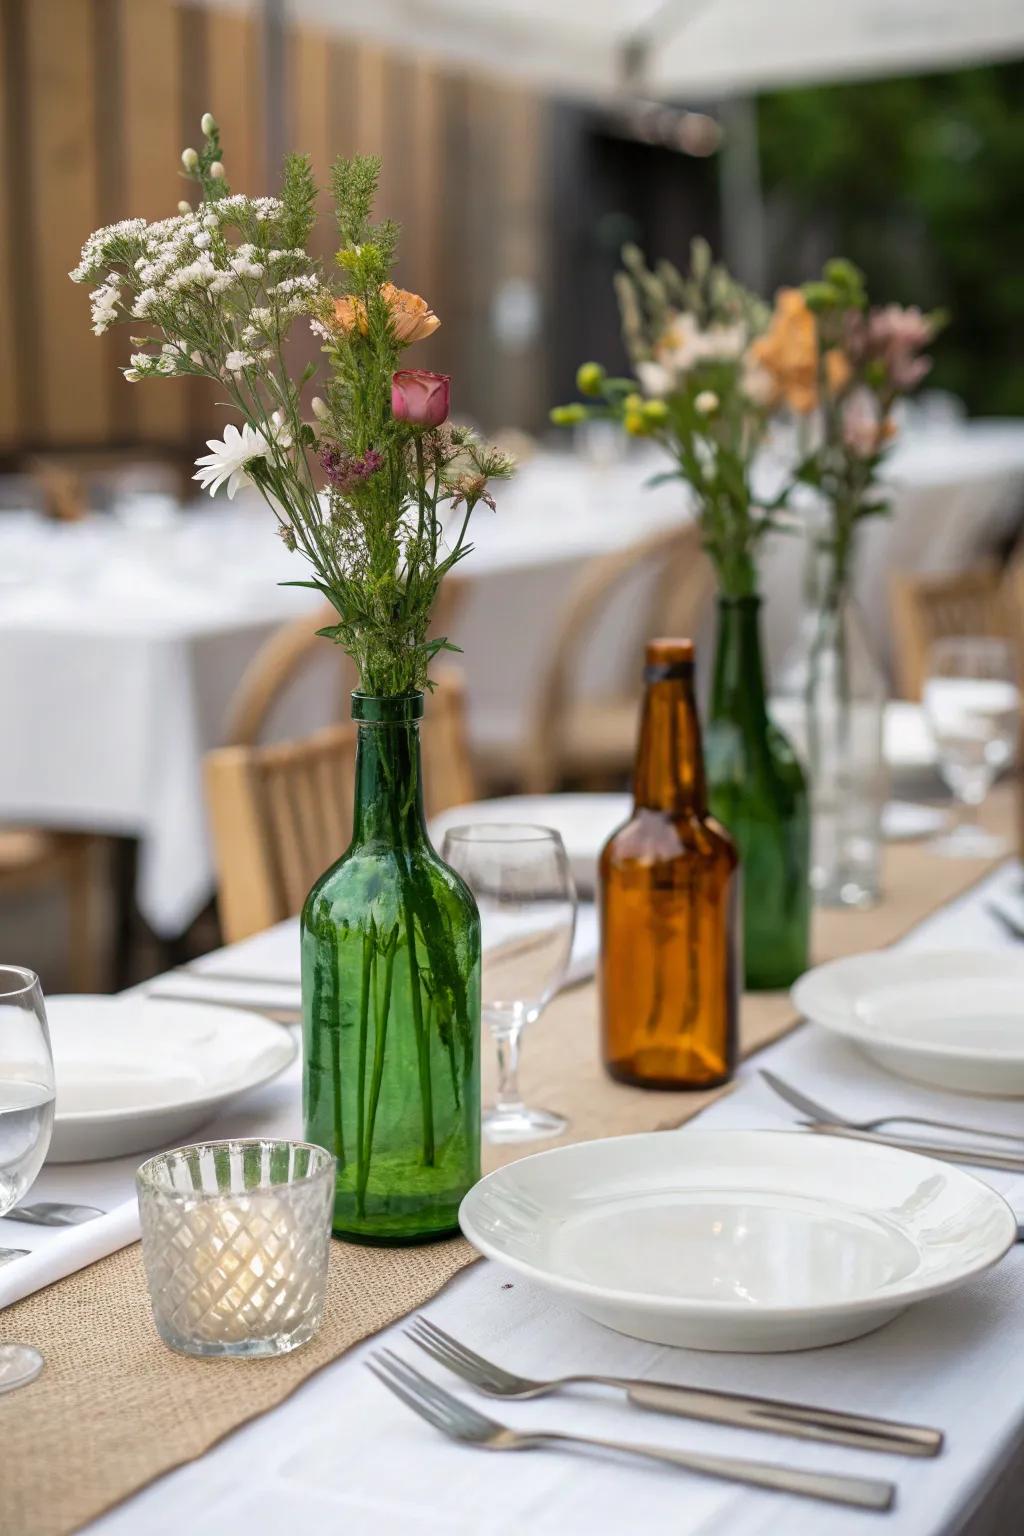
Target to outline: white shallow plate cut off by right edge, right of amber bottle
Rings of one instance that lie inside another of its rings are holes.
[[[900,1077],[1024,1097],[1024,952],[880,949],[815,966],[791,997]]]

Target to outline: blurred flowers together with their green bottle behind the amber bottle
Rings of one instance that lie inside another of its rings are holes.
[[[709,806],[732,833],[743,863],[746,983],[780,988],[806,969],[809,814],[789,743],[768,716],[758,628],[757,559],[785,518],[789,485],[771,496],[754,473],[775,415],[758,347],[768,306],[711,260],[703,240],[689,272],[651,270],[623,250],[616,292],[633,378],[596,362],[577,373],[583,401],[551,412],[559,425],[622,422],[657,442],[691,495],[718,582],[718,637],[705,730]]]

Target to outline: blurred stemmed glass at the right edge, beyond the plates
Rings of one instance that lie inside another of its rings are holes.
[[[973,636],[936,641],[929,653],[924,714],[940,771],[961,806],[956,826],[932,848],[972,859],[1006,852],[1007,843],[978,825],[978,806],[1016,746],[1021,694],[1009,642]]]

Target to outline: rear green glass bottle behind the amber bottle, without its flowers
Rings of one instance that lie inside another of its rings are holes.
[[[803,770],[768,717],[760,598],[718,598],[705,730],[711,814],[732,834],[743,877],[746,986],[789,986],[808,968],[811,808]]]

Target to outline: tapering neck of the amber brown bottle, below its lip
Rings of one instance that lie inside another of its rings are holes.
[[[705,756],[692,676],[648,684],[633,796],[643,809],[706,816]]]

